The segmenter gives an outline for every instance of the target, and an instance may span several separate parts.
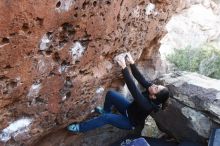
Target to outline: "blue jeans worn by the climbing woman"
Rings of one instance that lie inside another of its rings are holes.
[[[101,114],[99,117],[95,117],[91,120],[79,123],[80,132],[86,132],[106,124],[113,125],[120,129],[131,130],[133,125],[126,115],[126,109],[130,104],[131,103],[129,103],[121,94],[117,93],[116,91],[108,91],[104,102],[104,110],[107,113]],[[112,106],[114,106],[121,114],[112,114]]]

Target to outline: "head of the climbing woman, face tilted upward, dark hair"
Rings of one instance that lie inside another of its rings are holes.
[[[157,105],[162,104],[162,109],[167,107],[167,100],[170,96],[170,92],[167,87],[162,85],[153,84],[148,88],[149,98]]]

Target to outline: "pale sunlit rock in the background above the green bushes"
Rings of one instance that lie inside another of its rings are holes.
[[[220,48],[220,1],[180,0],[177,11],[167,23],[167,34],[161,40],[161,54],[206,43]]]

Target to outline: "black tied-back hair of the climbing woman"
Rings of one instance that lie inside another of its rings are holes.
[[[167,87],[162,89],[156,95],[156,99],[153,101],[155,104],[159,105],[162,104],[162,110],[165,110],[168,106],[168,99],[170,97],[170,92]]]

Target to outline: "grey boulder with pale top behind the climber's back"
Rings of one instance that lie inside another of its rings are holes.
[[[157,80],[173,97],[166,111],[154,115],[159,127],[179,140],[205,143],[220,126],[220,81],[197,73],[170,73]]]

